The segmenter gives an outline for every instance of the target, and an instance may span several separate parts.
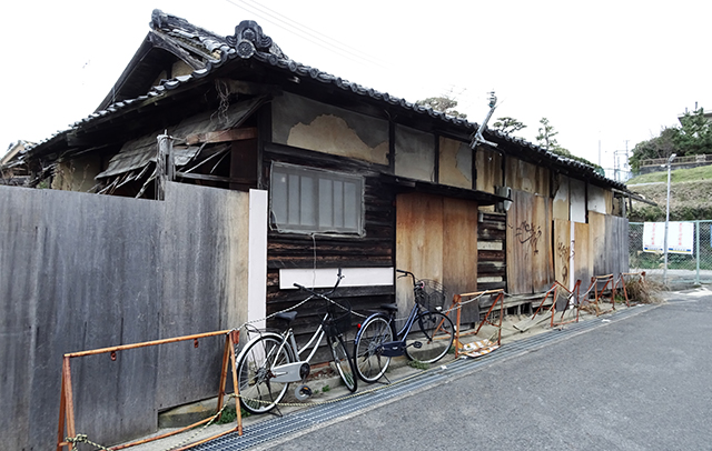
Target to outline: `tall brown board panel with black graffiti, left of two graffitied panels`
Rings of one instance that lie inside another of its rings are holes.
[[[551,199],[513,190],[507,212],[507,291],[545,291],[553,282]]]

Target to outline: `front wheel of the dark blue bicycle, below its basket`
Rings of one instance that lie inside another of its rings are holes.
[[[441,312],[423,312],[405,338],[405,353],[418,362],[437,362],[449,352],[454,338],[455,328],[449,318]],[[418,342],[419,347],[415,344]]]

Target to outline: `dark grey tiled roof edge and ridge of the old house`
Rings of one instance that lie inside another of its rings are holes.
[[[152,87],[149,92],[144,96],[112,103],[106,109],[97,111],[89,117],[75,122],[73,124],[71,124],[70,129],[60,131],[49,139],[39,142],[36,147],[49,143],[50,141],[53,141],[72,130],[89,126],[97,119],[118,114],[122,110],[126,110],[132,106],[139,106],[146,100],[161,97],[165,96],[168,91],[189,86],[195,80],[209,76],[216,69],[222,67],[231,60],[250,58],[265,64],[281,69],[284,71],[291,72],[291,74],[294,74],[295,77],[309,78],[323,83],[333,84],[344,91],[353,92],[354,94],[364,96],[376,101],[385,102],[388,106],[404,108],[419,114],[428,116],[433,119],[465,128],[472,132],[476,131],[478,128],[477,123],[475,122],[469,122],[462,118],[453,117],[441,111],[435,111],[429,107],[418,106],[405,99],[390,96],[387,92],[380,92],[375,89],[342,79],[340,77],[324,72],[317,68],[296,62],[284,54],[281,49],[279,49],[279,47],[277,47],[269,37],[264,34],[261,28],[257,24],[257,22],[254,21],[243,21],[236,27],[234,36],[220,37],[208,30],[204,30],[201,28],[192,26],[182,18],[166,14],[160,10],[154,10],[154,13],[151,16],[151,28],[152,31],[160,32],[164,37],[170,37],[172,39],[180,40],[184,47],[190,46],[195,49],[204,49],[205,51],[200,51],[198,54],[205,57],[205,67],[194,70],[190,74],[166,80],[160,86]],[[600,180],[605,184],[626,190],[624,183],[607,179],[604,176],[599,174],[595,171],[595,168],[592,166],[556,156],[555,153],[548,152],[526,140],[516,137],[510,137],[496,130],[488,129],[485,130],[485,133],[488,134],[491,139],[510,142],[524,151],[538,153],[542,158],[551,161],[552,163],[560,163],[564,167],[571,168],[574,171],[585,173],[592,179]]]

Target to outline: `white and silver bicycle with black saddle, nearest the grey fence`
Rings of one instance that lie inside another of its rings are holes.
[[[291,382],[301,382],[295,389],[295,397],[304,401],[312,395],[305,381],[310,372],[309,361],[326,335],[333,362],[346,388],[356,391],[358,378],[355,375],[354,361],[346,350],[344,332],[350,328],[350,304],[337,303],[328,297],[334,293],[344,275],[339,269],[336,284],[327,293],[294,285],[307,291],[310,295],[304,302],[318,298],[325,301],[324,317],[309,341],[299,349],[290,323],[297,317],[296,311],[280,312],[276,319],[287,322],[280,333],[254,330],[257,337],[249,340],[237,357],[237,384],[240,402],[251,413],[265,413],[274,409],[285,397]],[[303,303],[304,303],[303,302]],[[306,359],[300,355],[312,348]]]

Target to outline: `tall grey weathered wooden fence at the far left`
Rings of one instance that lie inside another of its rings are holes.
[[[244,320],[247,193],[167,188],[158,202],[0,187],[3,449],[55,448],[65,353]],[[161,408],[216,394],[222,344],[72,360],[77,430],[106,444],[155,432]]]

